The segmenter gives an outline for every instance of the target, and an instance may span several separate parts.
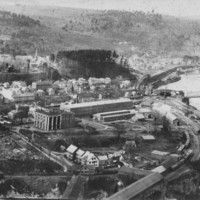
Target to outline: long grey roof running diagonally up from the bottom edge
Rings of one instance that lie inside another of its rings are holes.
[[[163,180],[163,176],[159,173],[152,173],[144,178],[132,183],[128,187],[120,190],[119,192],[115,193],[114,195],[107,198],[107,200],[129,200],[133,197],[136,197],[141,192],[144,192],[152,185],[159,183]]]

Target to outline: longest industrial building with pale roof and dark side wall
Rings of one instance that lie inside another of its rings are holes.
[[[100,112],[132,109],[133,102],[130,99],[116,99],[84,102],[77,104],[61,105],[60,109],[75,113],[76,117],[91,116]]]

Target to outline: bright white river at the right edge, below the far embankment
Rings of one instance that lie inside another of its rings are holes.
[[[200,92],[200,72],[195,71],[181,75],[181,80],[175,83],[170,83],[166,86],[161,86],[159,89],[182,90],[187,92]],[[195,106],[200,110],[200,98],[191,98],[190,105]]]

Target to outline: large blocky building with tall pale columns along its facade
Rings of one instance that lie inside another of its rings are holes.
[[[44,131],[65,129],[74,126],[75,117],[71,112],[57,109],[38,109],[35,111],[34,126]]]

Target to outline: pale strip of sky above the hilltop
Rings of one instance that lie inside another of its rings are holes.
[[[200,0],[0,0],[0,4],[61,6],[98,10],[139,10],[178,17],[200,16]]]

